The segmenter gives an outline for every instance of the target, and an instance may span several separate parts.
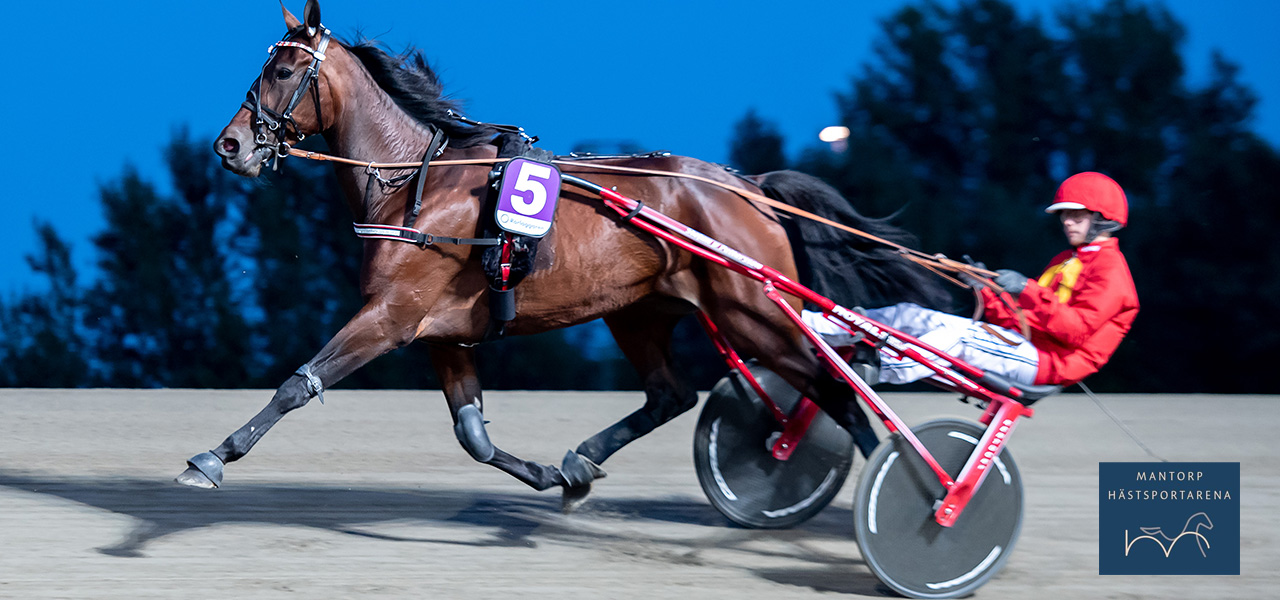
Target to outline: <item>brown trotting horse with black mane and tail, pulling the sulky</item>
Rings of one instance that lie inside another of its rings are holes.
[[[390,56],[372,42],[330,43],[316,0],[308,0],[303,17],[300,20],[284,9],[288,33],[251,87],[250,100],[214,143],[224,168],[257,177],[280,143],[314,134],[323,136],[335,155],[361,161],[413,161],[428,148],[439,148],[436,160],[497,156],[498,130],[453,118],[456,106],[443,97],[420,51]],[[696,174],[730,188],[768,193],[884,238],[909,238],[882,220],[858,215],[835,189],[799,173],[739,178],[717,165],[680,156],[590,162]],[[365,166],[338,164],[335,169],[357,221],[404,223],[415,186],[375,184]],[[850,243],[806,221],[795,224],[788,238],[777,214],[732,191],[685,179],[599,173],[588,164],[563,169],[640,198],[794,279],[800,274],[792,244],[803,246],[800,258],[810,264],[805,271],[812,274],[805,278],[815,284],[824,278],[828,285],[844,283],[851,296],[840,301],[849,306],[868,296],[936,304],[936,284],[892,252]],[[422,209],[415,221],[417,230],[477,237],[488,175],[488,165],[428,170],[419,182]],[[648,235],[620,220],[593,194],[566,188],[554,226],[540,242],[538,269],[516,288],[518,313],[507,333],[535,334],[603,317],[644,381],[645,403],[570,450],[559,468],[513,457],[493,445],[484,431],[472,351],[489,325],[489,284],[480,255],[475,246],[366,239],[360,275],[364,307],[280,385],[260,413],[218,448],[193,457],[177,481],[197,487],[221,485],[224,464],[243,458],[285,413],[316,395],[323,400],[325,388],[378,356],[425,340],[462,446],[476,461],[536,490],[563,487],[568,508],[585,498],[591,480],[603,476],[599,464],[609,455],[696,404],[695,390],[676,372],[671,353],[673,328],[695,311],[705,313],[741,354],[759,359],[841,425],[856,430],[867,423],[852,393],[826,372],[797,325],[756,281]],[[845,272],[831,276],[837,269]],[[799,307],[799,301],[791,302]]]

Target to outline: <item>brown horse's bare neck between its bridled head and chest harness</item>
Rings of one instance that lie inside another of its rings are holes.
[[[340,101],[334,102],[338,106],[337,115],[324,134],[329,148],[338,156],[360,161],[422,160],[422,154],[431,142],[431,133],[378,87],[355,58],[343,56],[343,59],[340,63],[334,61],[344,67],[344,90],[338,90],[335,93],[340,96]],[[375,183],[372,193],[369,194],[370,206],[365,206],[365,188],[369,184],[366,170],[339,166],[337,173],[352,215],[364,223],[399,225],[397,217],[403,215],[404,194],[412,193],[413,186],[385,188]],[[385,170],[381,177],[389,179],[404,173],[407,171]]]

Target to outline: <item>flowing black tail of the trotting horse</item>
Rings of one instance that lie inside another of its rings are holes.
[[[908,247],[915,235],[887,219],[859,215],[836,188],[796,171],[773,171],[751,179],[765,196],[836,223]],[[928,270],[893,248],[809,219],[783,219],[800,283],[844,306],[878,307],[914,302],[936,310],[951,307],[951,294]]]

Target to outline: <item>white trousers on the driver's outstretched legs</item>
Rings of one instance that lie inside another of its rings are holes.
[[[932,311],[910,302],[870,308],[867,316],[911,335],[920,342],[956,357],[983,371],[991,371],[1021,384],[1036,383],[1039,354],[1021,334],[988,322],[973,321],[946,312]],[[849,334],[822,316],[804,311],[804,322],[822,334],[832,345],[846,345]],[[928,352],[922,351],[925,357]],[[891,357],[881,351],[881,381],[908,384],[933,375],[924,365],[909,358]]]

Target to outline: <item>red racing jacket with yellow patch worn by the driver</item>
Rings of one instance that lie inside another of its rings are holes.
[[[1028,280],[1018,297],[1039,352],[1036,383],[1074,384],[1106,365],[1133,326],[1133,275],[1119,241],[1107,238],[1055,256],[1041,281]],[[1018,316],[989,288],[982,301],[987,321],[1019,330]]]

